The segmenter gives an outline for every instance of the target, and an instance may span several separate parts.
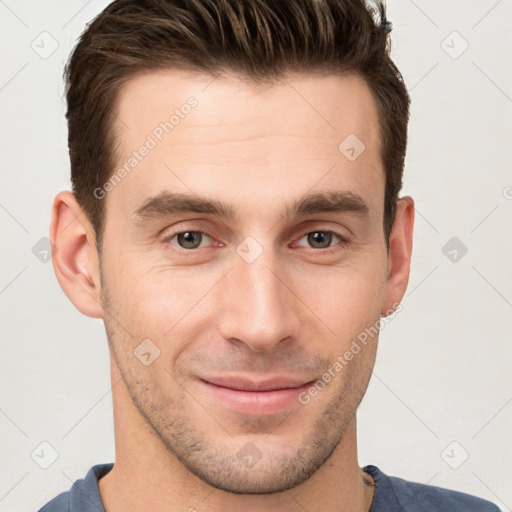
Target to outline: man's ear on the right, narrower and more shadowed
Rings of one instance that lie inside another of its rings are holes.
[[[405,196],[398,201],[395,222],[389,237],[388,275],[382,316],[388,316],[397,309],[407,289],[413,227],[414,201],[411,197]]]

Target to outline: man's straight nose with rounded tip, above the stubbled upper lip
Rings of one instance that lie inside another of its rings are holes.
[[[235,254],[218,297],[221,336],[256,352],[271,352],[298,337],[300,301],[292,278],[265,250],[255,261]]]

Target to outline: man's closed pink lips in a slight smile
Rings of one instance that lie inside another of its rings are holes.
[[[201,378],[199,383],[216,402],[234,412],[247,416],[268,416],[299,403],[299,394],[308,389],[313,381],[284,376],[264,380],[228,376]]]

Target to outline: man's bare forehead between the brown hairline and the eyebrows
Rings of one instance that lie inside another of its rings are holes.
[[[109,201],[126,213],[166,189],[261,206],[284,189],[298,197],[318,186],[383,202],[377,106],[356,75],[288,74],[257,85],[151,71],[125,84],[115,114],[117,168],[128,172]],[[134,156],[144,146],[145,156]]]

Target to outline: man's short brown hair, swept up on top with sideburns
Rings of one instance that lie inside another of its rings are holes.
[[[377,100],[386,172],[384,234],[394,223],[410,98],[390,58],[385,7],[364,0],[115,0],[86,28],[65,68],[73,192],[98,249],[94,190],[116,165],[113,121],[123,83],[145,70],[235,72],[255,82],[287,71],[357,73]],[[341,142],[341,141],[340,141]]]

